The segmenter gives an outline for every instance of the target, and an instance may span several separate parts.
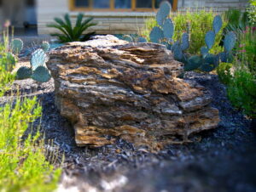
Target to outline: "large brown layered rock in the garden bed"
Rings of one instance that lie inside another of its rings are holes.
[[[158,148],[218,126],[210,94],[178,78],[183,64],[160,44],[95,37],[55,49],[47,66],[55,103],[72,122],[79,146],[120,137]]]

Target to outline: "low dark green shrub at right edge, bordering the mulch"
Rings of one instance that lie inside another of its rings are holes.
[[[256,117],[256,76],[244,68],[236,69],[227,91],[236,108],[247,116]]]

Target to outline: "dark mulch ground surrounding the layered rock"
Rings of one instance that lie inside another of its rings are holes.
[[[40,85],[16,81],[13,89],[37,95],[43,105],[42,132],[54,143],[46,147],[65,154],[59,191],[256,191],[256,132],[250,121],[232,108],[218,76],[189,72],[185,79],[211,91],[221,122],[196,135],[194,144],[169,145],[158,153],[135,149],[122,139],[95,150],[79,148],[73,128],[55,108],[52,80]]]

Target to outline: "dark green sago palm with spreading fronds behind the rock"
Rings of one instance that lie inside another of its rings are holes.
[[[58,37],[61,42],[84,42],[89,40],[90,36],[95,34],[95,31],[84,34],[90,26],[96,25],[96,23],[91,22],[92,17],[87,20],[83,20],[84,14],[79,14],[77,17],[76,24],[73,26],[70,20],[69,14],[64,15],[64,20],[60,18],[55,18],[54,24],[47,25],[48,27],[53,27],[61,33],[50,34],[53,37]]]

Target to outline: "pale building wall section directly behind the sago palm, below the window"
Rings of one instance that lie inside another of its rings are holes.
[[[63,14],[71,14],[75,20],[78,12],[70,12],[68,0],[38,0],[38,34],[49,34],[54,29],[46,27],[53,22],[55,17],[61,17]],[[137,33],[138,29],[143,27],[144,19],[154,13],[125,13],[125,12],[87,12],[86,18],[92,16],[98,24],[90,27],[89,31],[96,31],[98,34],[120,34]]]

